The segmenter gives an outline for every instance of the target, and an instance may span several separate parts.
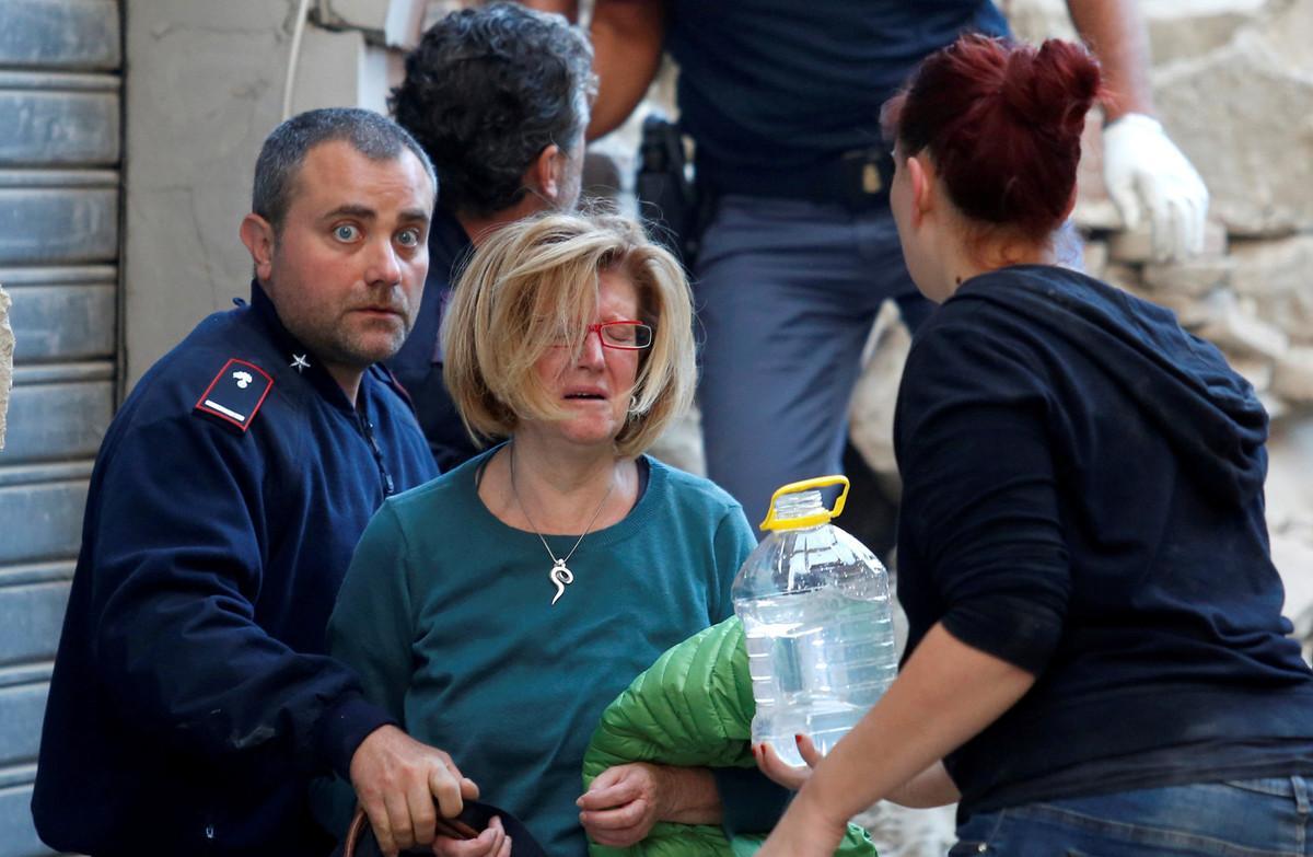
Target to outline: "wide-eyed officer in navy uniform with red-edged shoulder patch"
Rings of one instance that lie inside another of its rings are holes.
[[[436,476],[377,365],[412,326],[436,191],[423,150],[368,110],[265,141],[251,302],[146,373],[96,461],[33,797],[51,846],[327,854],[305,795],[330,769],[389,846],[432,839],[433,798],[454,815],[473,797],[324,655],[370,515]]]

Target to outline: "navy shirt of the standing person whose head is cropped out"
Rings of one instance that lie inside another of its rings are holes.
[[[700,168],[769,174],[882,146],[881,105],[964,32],[1007,24],[990,0],[674,0],[680,122]]]

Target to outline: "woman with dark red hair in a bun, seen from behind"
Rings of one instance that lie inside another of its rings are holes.
[[[910,656],[827,758],[804,747],[760,857],[829,854],[881,798],[960,799],[953,854],[1313,853],[1267,417],[1170,313],[1057,264],[1099,95],[1082,47],[964,37],[885,109],[941,304],[895,425]]]

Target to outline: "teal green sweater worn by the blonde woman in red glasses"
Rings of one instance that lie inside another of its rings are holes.
[[[575,798],[603,708],[671,645],[733,613],[755,545],[734,499],[647,459],[642,498],[588,534],[551,606],[551,560],[495,518],[478,456],[383,503],[328,623],[330,652],[416,739],[452,754],[482,799],[554,857],[583,857]],[[565,556],[576,536],[548,536]]]

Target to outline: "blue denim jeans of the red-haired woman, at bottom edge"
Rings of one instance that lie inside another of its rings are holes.
[[[973,815],[949,857],[1302,857],[1302,777],[1141,789]]]

